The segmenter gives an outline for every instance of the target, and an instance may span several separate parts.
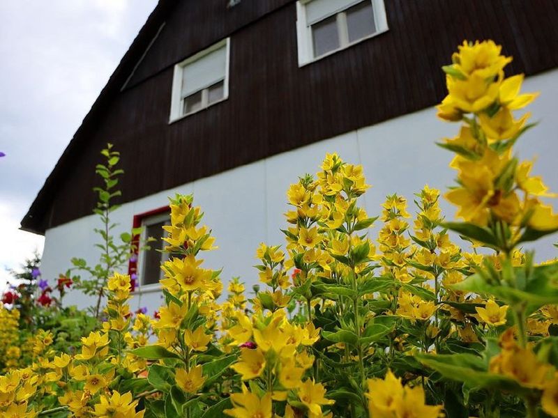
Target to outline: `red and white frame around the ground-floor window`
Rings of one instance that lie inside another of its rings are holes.
[[[146,293],[146,292],[153,292],[153,291],[160,291],[160,284],[159,283],[152,283],[152,284],[142,284],[143,276],[144,276],[144,264],[142,263],[145,251],[140,251],[138,246],[140,242],[144,242],[146,240],[146,221],[149,224],[161,222],[163,219],[169,219],[170,222],[170,209],[169,206],[162,206],[160,208],[149,210],[148,212],[140,213],[139,215],[134,215],[133,217],[133,228],[143,228],[143,231],[140,234],[134,235],[132,238],[134,248],[133,256],[135,256],[135,260],[130,258],[128,261],[128,274],[130,276],[132,274],[136,274],[137,278],[135,279],[135,283],[132,285],[132,293],[139,294],[139,293]],[[150,222],[151,221],[151,222]],[[141,238],[141,240],[140,240]]]

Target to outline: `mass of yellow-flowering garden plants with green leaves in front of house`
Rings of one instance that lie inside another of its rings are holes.
[[[220,271],[201,258],[211,230],[192,196],[175,196],[156,318],[130,312],[130,277],[114,272],[103,327],[79,353],[39,332],[36,361],[0,376],[3,414],[558,417],[558,263],[521,249],[557,231],[558,215],[513,155],[531,126],[513,112],[536,95],[504,77],[511,59],[492,41],[464,42],[452,61],[438,109],[461,127],[439,145],[455,154],[444,197],[462,222],[445,221],[428,186],[414,210],[393,194],[370,216],[362,167],[326,155],[289,187],[285,250],[256,251],[265,288],[247,300],[236,278],[219,303]]]

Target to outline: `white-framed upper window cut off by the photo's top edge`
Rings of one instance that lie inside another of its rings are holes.
[[[299,66],[388,30],[384,0],[299,0]]]

